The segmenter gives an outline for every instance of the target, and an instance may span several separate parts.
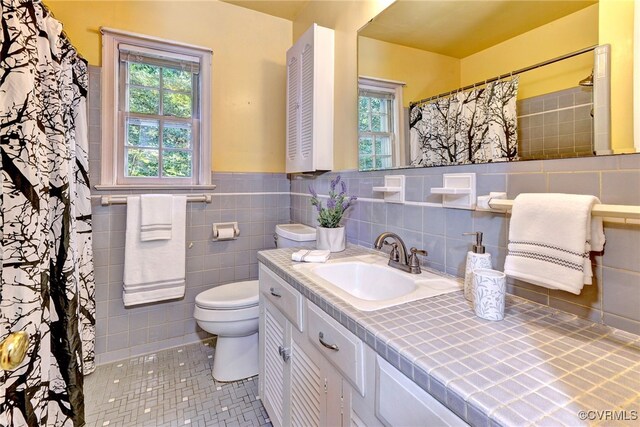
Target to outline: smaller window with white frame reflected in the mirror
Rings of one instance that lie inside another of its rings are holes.
[[[397,166],[404,155],[403,84],[365,77],[358,82],[358,169]]]

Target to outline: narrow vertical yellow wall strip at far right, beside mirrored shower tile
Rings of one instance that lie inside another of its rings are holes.
[[[611,44],[611,146],[633,146],[633,0],[600,0],[600,43]]]

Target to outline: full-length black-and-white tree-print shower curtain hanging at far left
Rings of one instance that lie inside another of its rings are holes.
[[[40,1],[0,0],[0,425],[84,425],[94,369],[87,64]]]

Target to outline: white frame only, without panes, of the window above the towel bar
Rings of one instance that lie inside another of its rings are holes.
[[[100,28],[102,33],[102,158],[99,189],[110,188],[202,188],[211,185],[211,69],[210,48],[165,40],[112,28]],[[199,63],[199,129],[194,129],[193,178],[124,178],[124,130],[119,118],[120,46],[140,53],[159,52],[171,58],[196,58]],[[189,181],[189,182],[186,182]]]

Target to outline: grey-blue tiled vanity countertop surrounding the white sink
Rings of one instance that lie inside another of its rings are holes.
[[[469,424],[638,425],[640,336],[511,295],[500,322],[461,291],[359,311],[292,268],[298,249],[258,260]]]

